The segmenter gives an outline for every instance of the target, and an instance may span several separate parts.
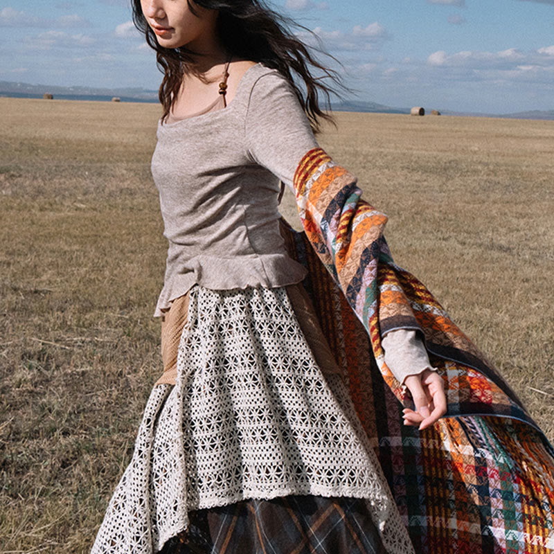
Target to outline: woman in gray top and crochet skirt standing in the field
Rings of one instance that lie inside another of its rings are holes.
[[[314,139],[329,89],[310,68],[330,72],[256,0],[134,0],[134,21],[164,71],[152,174],[169,241],[155,314],[165,371],[93,553],[412,553],[279,227],[278,180],[367,326],[370,287],[352,296],[345,266],[382,217]],[[359,217],[350,239],[314,227],[310,187],[328,174]],[[384,259],[378,235],[368,249]],[[382,325],[376,357],[411,394],[405,425],[423,430],[446,412],[444,379],[404,320]]]

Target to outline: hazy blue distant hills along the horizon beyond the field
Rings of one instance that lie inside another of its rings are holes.
[[[111,100],[114,96],[121,98],[122,102],[158,102],[158,91],[139,88],[122,89],[95,89],[93,87],[51,87],[48,84],[29,84],[26,82],[0,81],[0,96],[12,96],[15,98],[42,98],[46,92],[53,94],[60,100]],[[409,114],[410,108],[397,108],[377,104],[377,102],[364,102],[362,100],[343,100],[331,105],[334,111],[361,111],[374,114]],[[431,109],[426,109],[427,113]],[[498,117],[515,119],[542,119],[554,120],[554,109],[520,111],[517,114],[481,114],[461,111],[443,111],[445,116],[477,116]]]

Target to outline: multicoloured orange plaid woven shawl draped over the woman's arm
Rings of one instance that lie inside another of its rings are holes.
[[[283,221],[287,248],[308,270],[303,285],[415,551],[554,553],[554,449],[510,386],[395,265],[386,215],[355,177],[317,148],[294,190],[304,232]],[[381,337],[398,328],[418,331],[445,381],[447,413],[424,431],[402,425],[411,402],[384,362]]]

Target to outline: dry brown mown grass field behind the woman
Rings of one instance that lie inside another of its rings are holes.
[[[161,370],[159,107],[0,98],[0,114],[0,552],[84,553]],[[337,123],[321,143],[388,214],[397,263],[553,440],[554,123]]]

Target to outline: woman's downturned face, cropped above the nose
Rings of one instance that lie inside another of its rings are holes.
[[[144,17],[163,48],[187,46],[204,52],[215,41],[217,11],[194,5],[187,0],[141,0]]]

